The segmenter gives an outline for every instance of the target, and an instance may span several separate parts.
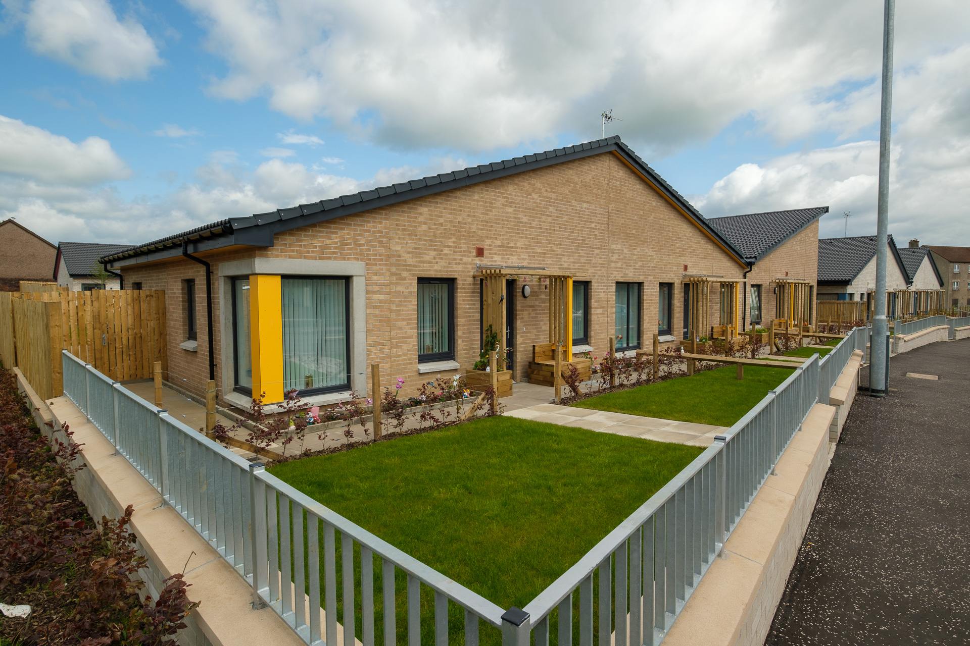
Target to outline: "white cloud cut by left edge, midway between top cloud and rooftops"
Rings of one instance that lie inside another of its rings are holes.
[[[100,137],[69,138],[0,115],[0,173],[40,182],[92,185],[131,174]]]

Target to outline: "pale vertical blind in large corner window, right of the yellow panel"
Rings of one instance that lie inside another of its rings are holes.
[[[347,282],[284,278],[283,390],[349,385]]]

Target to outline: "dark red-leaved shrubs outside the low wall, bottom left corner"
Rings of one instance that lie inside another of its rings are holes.
[[[79,451],[47,441],[14,373],[0,368],[0,600],[30,607],[25,618],[0,618],[0,643],[175,643],[197,605],[188,584],[175,574],[158,600],[140,599],[146,559],[128,531],[132,507],[92,521],[72,485]]]

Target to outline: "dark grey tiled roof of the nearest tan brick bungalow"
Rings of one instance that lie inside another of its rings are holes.
[[[269,213],[227,218],[190,231],[182,231],[151,242],[128,247],[122,251],[106,253],[103,260],[111,261],[114,267],[118,267],[128,262],[134,262],[134,259],[139,256],[149,256],[150,258],[146,260],[174,258],[181,255],[183,243],[187,243],[188,251],[191,253],[232,245],[271,247],[275,233],[280,231],[290,231],[298,227],[306,227],[372,208],[413,200],[526,170],[541,169],[553,164],[608,152],[617,154],[630,169],[653,183],[675,208],[678,208],[684,215],[693,220],[698,228],[705,231],[729,255],[733,256],[739,263],[747,264],[744,255],[720,231],[714,229],[688,200],[667,184],[654,169],[647,166],[646,162],[640,159],[619,137],[587,141],[574,146],[546,150],[545,152],[506,159],[492,164],[482,164],[453,172],[442,172],[437,175],[412,179],[391,186],[380,186],[370,191],[361,191],[331,200],[320,200],[289,208],[279,208]]]

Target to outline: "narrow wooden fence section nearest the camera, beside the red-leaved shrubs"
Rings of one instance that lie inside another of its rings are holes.
[[[64,394],[60,302],[16,298],[13,310],[17,367],[41,397],[59,397]]]

